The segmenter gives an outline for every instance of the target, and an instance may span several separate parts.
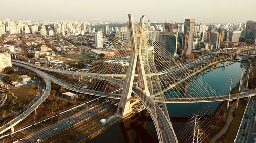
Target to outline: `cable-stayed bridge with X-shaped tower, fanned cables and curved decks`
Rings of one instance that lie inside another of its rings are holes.
[[[30,63],[32,60],[28,60],[29,63],[13,60],[13,63],[68,75],[67,82],[48,75],[63,88],[120,99],[117,114],[121,117],[129,115],[136,102],[142,102],[150,112],[159,142],[178,142],[165,103],[214,102],[255,95],[255,91],[240,93],[239,97],[238,94],[220,95],[202,79],[195,80],[195,73],[208,64],[215,65],[219,57],[211,54],[182,64],[148,35],[144,16],[136,24],[129,15],[129,22],[113,38],[109,50],[116,54],[95,59],[89,72],[71,67],[66,70],[48,68],[51,63],[47,62],[45,67],[37,66]],[[231,58],[225,56],[223,60]]]

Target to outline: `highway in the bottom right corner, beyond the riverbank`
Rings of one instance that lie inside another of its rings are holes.
[[[251,97],[249,103],[245,109],[244,116],[242,118],[236,139],[234,143],[255,143],[256,136],[253,136],[252,133],[256,133],[256,98]]]

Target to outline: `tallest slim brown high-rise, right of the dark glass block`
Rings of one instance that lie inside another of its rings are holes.
[[[193,48],[193,35],[195,30],[195,19],[185,19],[184,33],[182,38],[182,58],[192,53]]]

